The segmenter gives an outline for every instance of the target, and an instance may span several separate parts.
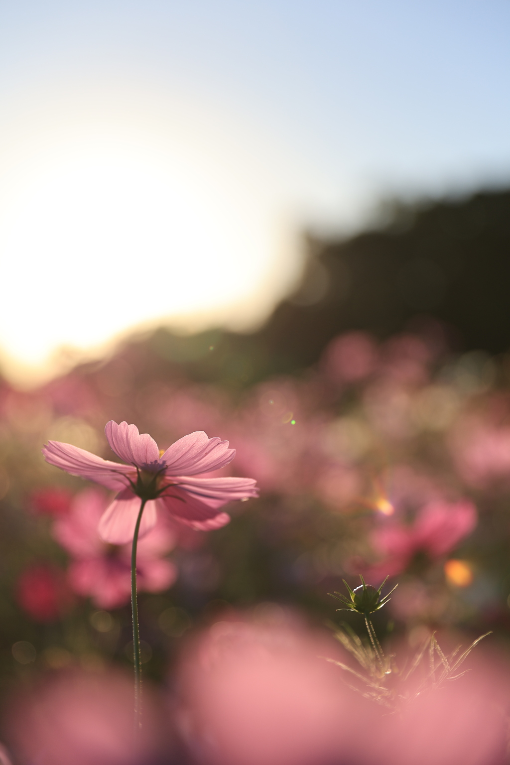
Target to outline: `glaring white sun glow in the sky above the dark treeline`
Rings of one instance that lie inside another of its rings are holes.
[[[149,140],[69,141],[13,179],[0,214],[0,347],[21,363],[228,313],[271,260],[270,226],[247,195]]]

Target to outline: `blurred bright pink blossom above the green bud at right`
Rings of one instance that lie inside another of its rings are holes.
[[[430,558],[450,552],[476,526],[476,508],[469,500],[436,500],[422,507],[412,526],[391,520],[372,533],[372,545],[384,556],[372,575],[395,576],[407,568],[418,551]]]

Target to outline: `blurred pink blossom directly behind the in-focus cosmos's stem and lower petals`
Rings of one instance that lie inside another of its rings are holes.
[[[84,489],[76,494],[68,515],[55,522],[53,533],[73,558],[67,571],[73,591],[91,597],[99,608],[116,608],[131,597],[131,545],[109,545],[99,537],[97,526],[107,504],[101,490]],[[138,590],[160,592],[171,587],[177,569],[163,556],[174,544],[174,533],[164,519],[158,519],[138,542]]]

